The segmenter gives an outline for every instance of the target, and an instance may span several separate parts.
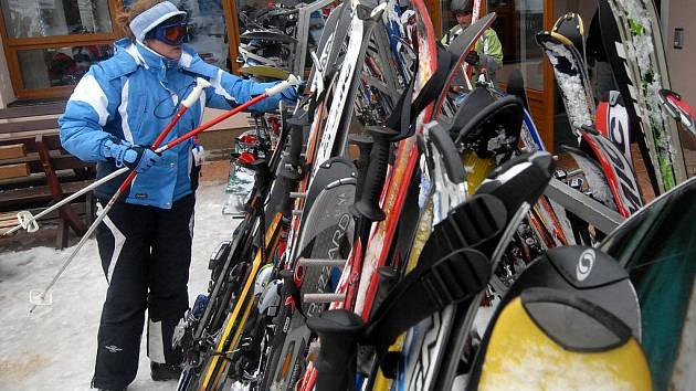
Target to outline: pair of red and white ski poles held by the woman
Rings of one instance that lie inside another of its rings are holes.
[[[208,86],[210,86],[210,83],[201,77],[198,77],[196,80],[196,87],[193,87],[193,91],[191,91],[191,93],[189,94],[189,96],[183,99],[181,102],[181,108],[179,109],[179,112],[173,116],[173,118],[171,119],[171,121],[167,125],[167,127],[161,131],[161,134],[157,137],[157,139],[155,140],[155,142],[152,144],[152,146],[150,147],[151,150],[154,150],[157,154],[161,154],[168,149],[173,148],[175,146],[188,140],[189,138],[200,134],[201,131],[210,128],[213,125],[217,125],[221,121],[223,121],[224,119],[249,108],[252,105],[255,105],[264,99],[266,99],[270,96],[273,96],[275,94],[278,94],[283,91],[285,91],[286,88],[291,87],[291,86],[297,86],[299,84],[299,80],[297,77],[295,77],[294,75],[291,75],[286,81],[278,83],[277,85],[267,88],[263,94],[255,96],[254,98],[232,108],[231,110],[218,116],[214,119],[211,119],[210,121],[197,127],[196,129],[165,144],[164,146],[160,146],[162,144],[162,141],[165,140],[165,138],[167,137],[167,135],[169,135],[169,131],[175,127],[175,125],[177,125],[177,123],[179,121],[179,119],[181,118],[181,116],[183,115],[183,113],[186,113],[188,110],[188,108],[194,104],[201,96],[201,93],[203,92],[203,89]],[[50,209],[43,211],[42,213],[39,213],[36,216],[32,216],[30,219],[25,219],[24,221],[22,221],[22,218],[20,218],[20,225],[13,228],[12,232],[19,230],[19,228],[22,226],[29,226],[29,228],[35,228],[38,229],[36,225],[36,219],[39,219],[42,215],[45,215],[46,213],[51,212],[52,210],[55,210],[60,207],[62,207],[63,204],[70,202],[71,200],[75,199],[76,197],[80,197],[80,194],[83,194],[89,190],[92,190],[93,188],[107,182],[108,180],[124,173],[128,171],[128,168],[122,168],[119,170],[116,170],[115,172],[113,172],[112,175],[104,177],[103,179],[98,180],[97,182],[91,184],[89,187],[81,190],[80,192],[66,198],[65,200],[56,203],[55,205],[51,207]],[[126,178],[126,180],[118,187],[118,189],[116,190],[116,192],[114,193],[114,196],[110,198],[110,200],[106,203],[106,205],[103,208],[102,212],[99,213],[99,215],[95,219],[95,221],[92,223],[92,225],[89,225],[89,228],[87,229],[87,232],[84,234],[84,236],[82,236],[82,239],[80,240],[80,243],[77,243],[77,246],[75,247],[75,250],[73,250],[73,252],[70,254],[70,256],[65,260],[65,263],[63,263],[63,266],[61,266],[61,268],[59,270],[59,272],[56,273],[56,275],[53,277],[53,279],[51,281],[51,283],[49,283],[49,285],[43,289],[32,289],[30,290],[29,294],[29,300],[31,304],[33,304],[32,308],[30,309],[30,313],[33,313],[34,309],[36,308],[36,306],[41,306],[41,305],[51,305],[52,303],[52,297],[49,294],[49,290],[53,287],[53,285],[55,285],[55,283],[57,282],[57,279],[61,277],[61,275],[63,274],[63,272],[65,271],[65,268],[67,268],[67,266],[70,265],[70,263],[75,258],[75,256],[77,255],[77,253],[80,252],[80,250],[83,247],[83,245],[87,242],[87,239],[89,239],[89,236],[92,235],[92,233],[94,233],[94,231],[96,230],[96,228],[99,225],[99,223],[104,220],[104,218],[106,216],[106,214],[108,213],[108,211],[112,209],[112,207],[114,207],[114,204],[116,203],[116,201],[118,201],[118,199],[120,198],[120,196],[128,190],[128,187],[130,186],[130,183],[133,182],[133,180],[135,179],[135,177],[137,176],[137,172],[131,171],[130,175],[128,175],[128,177]],[[34,229],[34,231],[35,231]],[[10,232],[8,231],[8,232]],[[33,231],[30,231],[33,232]]]

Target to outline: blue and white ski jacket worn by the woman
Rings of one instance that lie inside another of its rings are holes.
[[[196,86],[196,77],[208,80],[211,86],[164,142],[198,127],[204,107],[231,109],[276,84],[242,80],[205,63],[188,45],[173,61],[128,39],[115,45],[113,57],[92,65],[82,77],[59,118],[63,147],[84,161],[96,161],[97,178],[117,169],[114,159],[102,152],[104,141],[115,137],[122,142],[150,146],[177,113],[180,101]],[[282,98],[289,101],[277,94],[251,109],[272,110]],[[187,140],[165,151],[156,166],[136,177],[125,201],[170,209],[175,201],[193,192],[200,170],[194,165],[194,147],[193,140]],[[95,194],[109,199],[124,179],[125,176],[110,180],[98,187]]]

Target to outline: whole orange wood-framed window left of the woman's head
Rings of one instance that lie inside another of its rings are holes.
[[[89,65],[113,54],[117,0],[0,0],[18,98],[67,96]]]

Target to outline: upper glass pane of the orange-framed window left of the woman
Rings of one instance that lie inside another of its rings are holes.
[[[109,33],[108,0],[0,0],[10,38]]]

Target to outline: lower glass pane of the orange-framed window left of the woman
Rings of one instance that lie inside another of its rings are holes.
[[[112,45],[19,50],[24,88],[75,85],[89,65],[113,55]]]

